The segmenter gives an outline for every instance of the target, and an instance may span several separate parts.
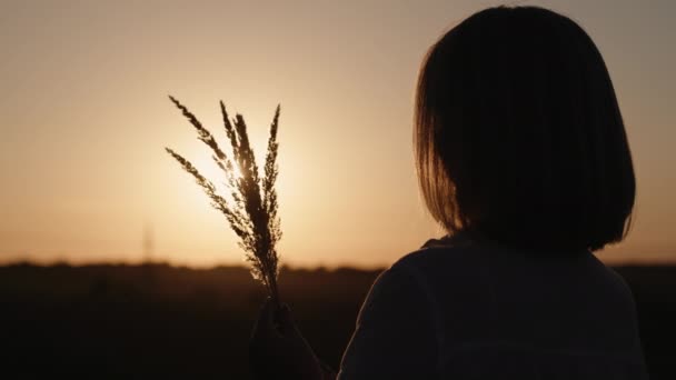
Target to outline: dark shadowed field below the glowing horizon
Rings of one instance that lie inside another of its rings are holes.
[[[652,379],[676,379],[676,267],[616,269],[636,296]],[[334,368],[377,274],[282,270],[285,301]],[[242,268],[0,267],[0,377],[248,379],[262,298]]]

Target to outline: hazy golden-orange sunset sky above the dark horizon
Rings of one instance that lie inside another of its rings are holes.
[[[163,151],[210,177],[218,100],[265,149],[281,103],[282,262],[386,266],[440,234],[411,153],[428,47],[495,1],[0,1],[0,261],[240,263],[225,219]],[[539,1],[614,80],[638,199],[609,262],[676,260],[676,1]],[[146,232],[145,232],[146,231]]]

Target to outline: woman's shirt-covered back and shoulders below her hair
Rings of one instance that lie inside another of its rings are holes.
[[[592,252],[431,246],[378,278],[339,378],[647,378],[632,293]]]

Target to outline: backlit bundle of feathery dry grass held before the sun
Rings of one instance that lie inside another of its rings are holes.
[[[279,256],[276,244],[281,238],[279,217],[277,216],[277,126],[279,121],[280,107],[277,106],[275,118],[270,126],[270,138],[268,139],[268,151],[265,164],[265,176],[260,178],[254,150],[249,144],[247,124],[241,114],[236,114],[232,120],[226,111],[226,106],[220,101],[220,110],[223,118],[226,134],[230,141],[231,157],[228,156],[216,142],[197,118],[178,100],[169,96],[169,99],[182,114],[190,121],[199,134],[199,140],[205,142],[212,153],[213,161],[222,170],[226,177],[226,186],[229,196],[221,196],[213,182],[205,178],[190,161],[170,148],[166,148],[186,170],[190,173],[197,184],[209,197],[211,206],[219,210],[228,220],[232,231],[239,237],[239,247],[245,251],[246,259],[250,263],[251,274],[260,280],[267,288],[268,293],[276,304],[279,304],[279,292],[277,290],[277,276],[279,273]],[[239,169],[239,173],[235,170]]]

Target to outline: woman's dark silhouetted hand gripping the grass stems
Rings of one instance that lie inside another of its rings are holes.
[[[249,360],[256,379],[324,380],[330,374],[315,356],[284,304],[268,299],[254,327]]]

